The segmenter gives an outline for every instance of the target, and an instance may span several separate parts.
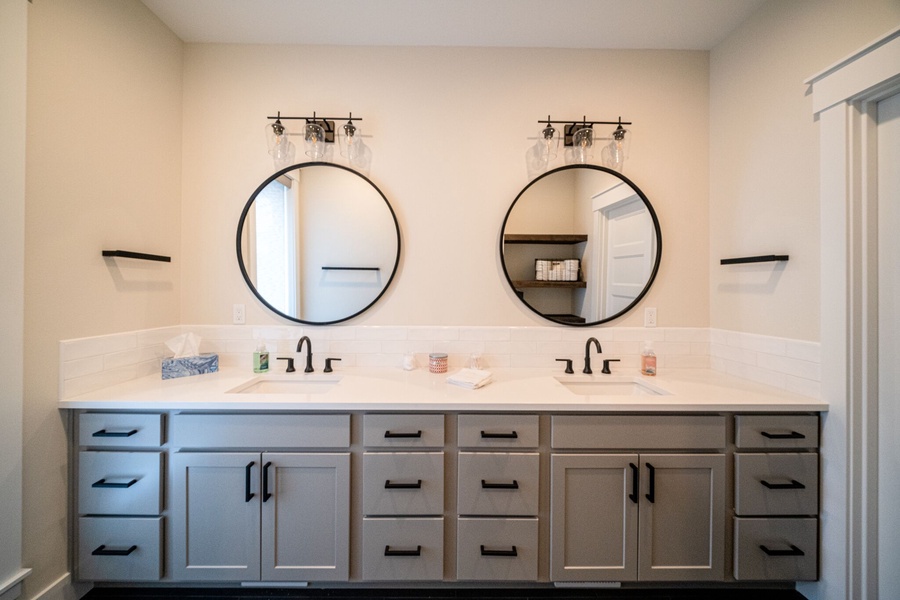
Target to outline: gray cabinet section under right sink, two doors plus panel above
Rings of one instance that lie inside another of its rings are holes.
[[[725,578],[723,417],[554,416],[552,446],[553,581]]]

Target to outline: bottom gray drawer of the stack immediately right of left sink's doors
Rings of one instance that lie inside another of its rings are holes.
[[[440,581],[444,520],[363,519],[363,579]]]

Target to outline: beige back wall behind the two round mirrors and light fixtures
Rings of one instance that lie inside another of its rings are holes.
[[[353,324],[548,324],[508,289],[498,245],[527,183],[537,120],[550,113],[634,121],[624,173],[656,208],[664,246],[642,306],[658,308],[661,326],[706,326],[707,56],[187,45],[183,322],[230,323],[234,303],[247,305],[248,324],[278,322],[244,285],[234,236],[247,198],[274,170],[263,129],[280,110],[352,111],[372,136],[370,177],[397,212],[403,258],[391,289]],[[640,325],[642,314],[613,324]]]

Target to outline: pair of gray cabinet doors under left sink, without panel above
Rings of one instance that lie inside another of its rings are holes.
[[[182,452],[172,472],[175,579],[347,580],[349,454]]]

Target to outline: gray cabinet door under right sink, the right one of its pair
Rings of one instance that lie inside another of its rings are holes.
[[[642,454],[642,581],[725,577],[725,455]]]

